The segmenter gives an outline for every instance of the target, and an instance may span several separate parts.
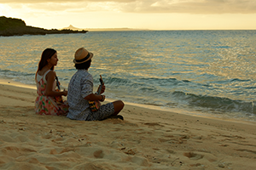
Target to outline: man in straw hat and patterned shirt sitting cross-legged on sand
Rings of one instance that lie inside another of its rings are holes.
[[[104,84],[100,94],[93,93],[93,78],[88,72],[90,68],[92,53],[89,53],[85,48],[79,48],[73,62],[78,70],[71,78],[68,85],[67,102],[69,105],[69,113],[67,117],[79,121],[100,121],[108,117],[120,118],[119,112],[124,108],[124,103],[121,100],[101,105],[98,111],[91,111],[89,101],[104,101],[105,91]]]

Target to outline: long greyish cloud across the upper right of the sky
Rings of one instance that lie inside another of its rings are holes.
[[[149,0],[122,6],[126,12],[189,14],[255,14],[252,0]]]

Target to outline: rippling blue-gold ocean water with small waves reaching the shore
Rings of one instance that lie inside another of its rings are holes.
[[[89,31],[86,34],[0,37],[0,78],[35,84],[45,48],[67,88],[73,54],[94,53],[89,69],[106,96],[163,109],[256,121],[256,31]]]

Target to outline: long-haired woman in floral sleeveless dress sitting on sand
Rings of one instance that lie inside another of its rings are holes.
[[[40,115],[67,115],[67,102],[57,102],[57,98],[67,96],[67,91],[55,91],[55,65],[58,62],[55,49],[46,48],[41,56],[36,73],[38,97],[35,101],[35,111]]]

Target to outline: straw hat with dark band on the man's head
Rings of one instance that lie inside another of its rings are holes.
[[[93,57],[92,53],[89,53],[85,48],[79,48],[74,56],[74,64],[82,64]]]

